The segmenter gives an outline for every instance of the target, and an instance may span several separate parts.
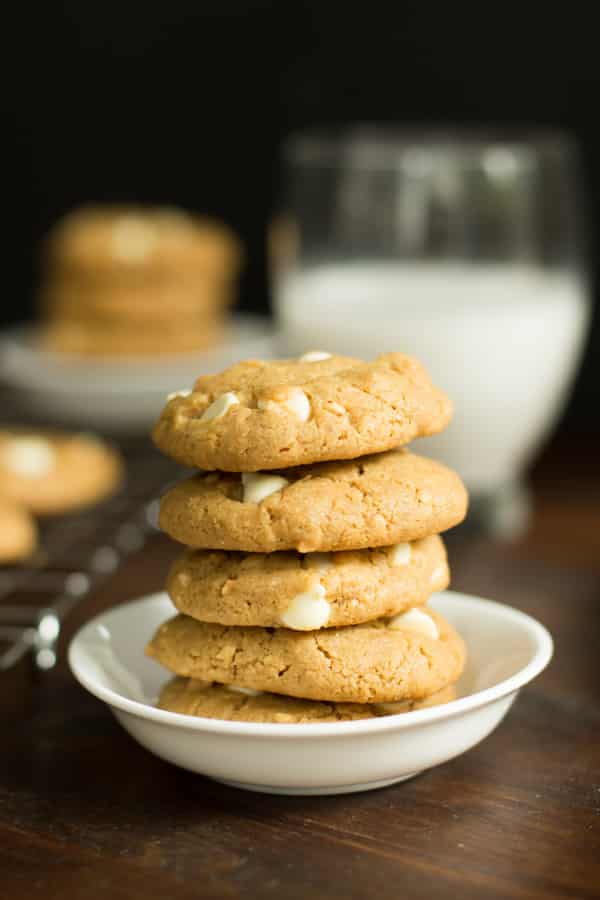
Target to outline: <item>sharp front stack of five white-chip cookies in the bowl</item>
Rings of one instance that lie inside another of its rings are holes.
[[[147,649],[177,676],[162,708],[323,722],[452,697],[464,645],[426,602],[448,584],[439,533],[466,492],[398,449],[450,416],[398,353],[243,362],[168,402],[156,444],[205,471],[161,504],[189,548],[167,585],[179,614]]]

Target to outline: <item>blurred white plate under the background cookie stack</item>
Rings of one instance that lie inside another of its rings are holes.
[[[167,394],[240,359],[274,355],[267,319],[234,318],[223,343],[212,351],[174,356],[94,359],[41,350],[33,329],[5,332],[0,371],[22,406],[45,421],[99,430],[148,431]]]

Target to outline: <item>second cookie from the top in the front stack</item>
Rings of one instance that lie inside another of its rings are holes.
[[[275,474],[197,475],[161,501],[160,526],[198,549],[301,553],[414,541],[462,521],[467,494],[407,450]]]

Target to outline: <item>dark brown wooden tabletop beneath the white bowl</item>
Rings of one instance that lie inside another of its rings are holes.
[[[0,898],[600,897],[598,444],[536,470],[530,532],[451,541],[454,586],[514,604],[556,654],[494,734],[395,787],[229,789],[154,758],[64,661],[0,680]],[[164,579],[163,538],[69,622]]]

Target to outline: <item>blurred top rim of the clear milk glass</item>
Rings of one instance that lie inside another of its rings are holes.
[[[288,164],[352,168],[393,167],[406,154],[443,153],[475,162],[490,150],[507,151],[515,159],[532,154],[567,159],[578,153],[573,134],[537,125],[389,125],[356,123],[293,132],[282,142]]]

